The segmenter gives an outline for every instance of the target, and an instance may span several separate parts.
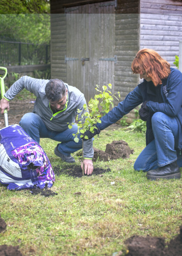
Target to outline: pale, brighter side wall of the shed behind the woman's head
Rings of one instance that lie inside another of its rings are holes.
[[[182,40],[182,2],[140,0],[140,49],[156,50],[172,67]]]

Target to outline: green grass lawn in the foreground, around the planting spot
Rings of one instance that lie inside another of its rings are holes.
[[[95,136],[94,147],[105,150],[113,140],[134,149],[130,158],[94,163],[111,169],[103,176],[56,176],[51,190],[58,195],[7,191],[0,185],[0,214],[7,223],[0,245],[19,245],[23,256],[112,256],[126,254],[124,241],[132,235],[174,238],[182,224],[181,180],[149,181],[133,170],[145,147],[144,133],[107,128]],[[54,155],[56,141],[41,139],[40,144],[53,167],[64,166]]]

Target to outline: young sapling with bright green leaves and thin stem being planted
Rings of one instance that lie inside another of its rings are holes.
[[[100,90],[100,86],[96,85],[96,94],[94,98],[91,98],[88,102],[88,106],[86,104],[83,105],[83,109],[78,109],[76,120],[78,122],[78,131],[76,134],[73,134],[74,141],[78,142],[78,134],[81,134],[82,138],[82,174],[84,175],[84,157],[83,157],[83,139],[88,139],[88,136],[84,135],[86,131],[90,131],[94,133],[94,128],[96,123],[101,123],[101,115],[102,113],[108,113],[110,110],[110,106],[114,107],[114,97],[118,100],[116,95],[120,97],[119,92],[112,95],[109,89],[112,88],[112,85],[109,83],[107,86],[102,86],[102,90]],[[68,125],[68,128],[72,128],[72,124]]]

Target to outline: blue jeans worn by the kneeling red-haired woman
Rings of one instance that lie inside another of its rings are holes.
[[[149,171],[177,160],[182,167],[182,155],[178,146],[178,124],[175,117],[162,112],[152,116],[154,140],[150,142],[134,163],[134,170]]]

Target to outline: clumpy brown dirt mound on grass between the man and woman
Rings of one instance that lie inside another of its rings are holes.
[[[133,149],[128,146],[128,143],[120,141],[112,141],[106,145],[105,151],[94,148],[93,161],[97,159],[100,161],[109,161],[118,158],[129,158],[130,154],[133,154]]]

